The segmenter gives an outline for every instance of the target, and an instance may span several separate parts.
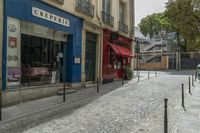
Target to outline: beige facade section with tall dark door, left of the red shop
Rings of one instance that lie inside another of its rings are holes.
[[[100,0],[70,0],[63,5],[55,1],[45,2],[83,19],[81,83],[94,83],[102,77],[102,38],[103,30],[99,10]]]

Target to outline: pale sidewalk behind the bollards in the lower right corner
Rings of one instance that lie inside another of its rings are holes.
[[[174,133],[200,133],[200,81],[192,88],[192,95],[185,100],[186,111]]]

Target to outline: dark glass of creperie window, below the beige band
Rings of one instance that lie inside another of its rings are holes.
[[[22,85],[61,82],[63,43],[25,34],[21,40]]]

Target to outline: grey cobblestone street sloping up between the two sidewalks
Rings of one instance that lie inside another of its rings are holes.
[[[169,99],[169,132],[172,132],[183,112],[181,83],[187,88],[187,81],[184,75],[160,75],[140,83],[129,82],[71,114],[24,132],[161,133],[164,130],[164,98]]]

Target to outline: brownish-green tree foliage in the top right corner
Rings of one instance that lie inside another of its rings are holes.
[[[165,16],[177,33],[181,49],[200,49],[200,0],[174,0],[166,7]]]

